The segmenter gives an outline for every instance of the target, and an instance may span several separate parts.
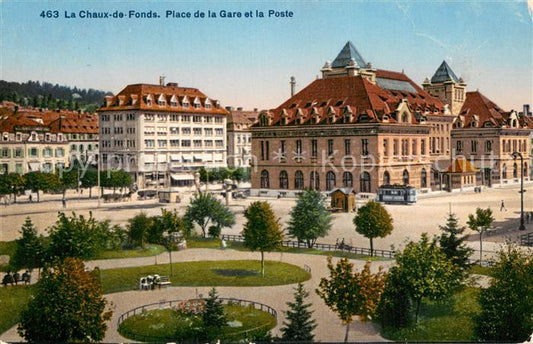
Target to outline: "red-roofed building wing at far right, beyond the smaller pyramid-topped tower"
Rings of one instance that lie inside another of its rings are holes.
[[[467,92],[454,121],[452,147],[456,156],[465,157],[479,170],[477,185],[518,182],[522,172],[513,152],[522,154],[524,180],[529,180],[531,129],[533,118],[504,111],[478,91]]]

